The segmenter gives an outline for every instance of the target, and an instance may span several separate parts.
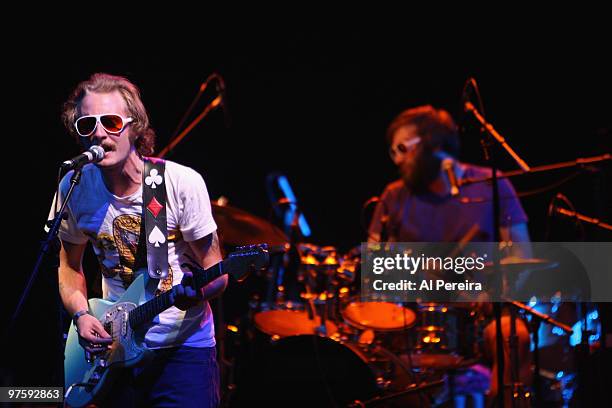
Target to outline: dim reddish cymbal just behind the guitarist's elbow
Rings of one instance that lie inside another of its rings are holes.
[[[283,231],[265,219],[236,207],[222,205],[222,201],[212,201],[211,204],[223,244],[240,246],[266,243],[279,247],[288,245],[289,240]]]

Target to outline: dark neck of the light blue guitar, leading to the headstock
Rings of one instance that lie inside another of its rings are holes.
[[[217,279],[224,272],[224,262],[211,266],[206,270],[199,270],[193,274],[193,286],[196,291],[199,291],[204,286],[208,285],[213,280]],[[132,328],[137,328],[144,323],[150,322],[155,316],[174,305],[172,291],[163,292],[159,296],[155,296],[153,299],[148,300],[142,305],[136,307],[130,312],[130,325]]]

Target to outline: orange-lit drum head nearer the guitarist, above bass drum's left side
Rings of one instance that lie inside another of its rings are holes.
[[[321,325],[321,317],[308,318],[308,312],[294,310],[268,310],[257,313],[254,317],[255,326],[269,336],[287,337],[301,334],[316,334]],[[330,321],[325,322],[327,335],[338,332],[338,328]]]

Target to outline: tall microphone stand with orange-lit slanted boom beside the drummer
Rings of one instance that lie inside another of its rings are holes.
[[[474,107],[474,105],[466,101],[464,103],[464,107],[466,112],[472,113],[474,118],[480,124],[481,131],[481,145],[484,151],[484,156],[486,162],[489,164],[491,168],[491,181],[492,181],[492,189],[493,189],[493,234],[494,234],[494,242],[499,243],[501,241],[500,234],[500,197],[499,197],[499,185],[498,185],[498,175],[497,175],[497,163],[492,154],[491,145],[492,140],[495,140],[499,143],[515,160],[515,162],[521,167],[523,171],[529,171],[530,167],[527,163],[521,159],[518,154],[508,145],[506,140],[495,130],[493,125],[488,123],[485,118],[478,112],[478,110]],[[499,274],[499,261],[500,254],[498,248],[495,248],[493,251],[493,271],[494,276],[498,279],[493,288],[493,293],[497,293],[498,295],[502,295],[505,291],[505,286],[507,285],[505,273],[502,271],[501,276]],[[497,406],[503,407],[505,398],[505,384],[504,384],[504,371],[505,371],[505,361],[504,361],[504,341],[503,341],[503,332],[502,332],[502,303],[494,302],[493,303],[493,312],[495,314],[495,347],[496,347],[496,358],[497,358]],[[512,400],[512,406],[515,407],[517,400],[516,396],[523,395],[523,393],[519,392],[519,388],[522,387],[522,384],[518,381],[518,337],[516,335],[516,313],[513,309],[510,311],[510,364],[511,364],[511,378],[512,378],[512,389],[510,391],[510,396]]]

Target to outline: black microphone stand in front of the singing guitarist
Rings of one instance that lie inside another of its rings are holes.
[[[48,254],[52,255],[51,259],[53,260],[52,265],[50,266],[52,266],[56,271],[56,274],[55,274],[56,278],[54,278],[53,282],[54,283],[57,282],[57,269],[56,268],[59,266],[59,250],[61,248],[61,243],[59,242],[59,238],[57,237],[57,234],[59,232],[59,227],[61,225],[62,220],[66,219],[68,216],[68,214],[65,213],[66,206],[68,205],[70,196],[72,195],[74,188],[81,181],[81,174],[82,174],[82,165],[74,169],[74,173],[70,179],[70,189],[68,190],[68,193],[66,194],[66,197],[64,198],[62,202],[62,206],[60,207],[59,211],[55,214],[55,217],[53,218],[53,220],[50,220],[47,222],[47,226],[49,226],[49,232],[47,233],[47,237],[41,242],[40,250],[38,252],[38,257],[36,259],[36,263],[34,264],[34,268],[32,269],[32,272],[30,273],[28,283],[19,298],[19,303],[17,304],[17,308],[15,309],[15,312],[13,313],[13,316],[11,317],[11,321],[9,322],[8,329],[6,331],[7,339],[10,336],[10,333],[13,332],[13,329],[15,325],[17,324],[17,320],[19,319],[21,315],[23,306],[26,300],[28,299],[30,290],[32,289],[32,285],[36,281],[38,272],[40,271],[40,267],[42,266],[43,261]],[[59,189],[56,195],[56,200],[57,199],[59,199]],[[59,293],[59,287],[56,285],[53,285],[53,289],[55,290],[55,300],[57,302],[57,310],[58,310],[57,333],[58,333],[58,336],[60,337],[60,341],[58,343],[60,350],[58,350],[58,352],[56,353],[57,361],[56,361],[56,371],[55,372],[59,377],[58,383],[63,385],[64,383],[64,350],[62,347],[63,340],[64,340],[63,339],[63,331],[64,331],[63,330],[63,308],[62,308],[61,296]]]

